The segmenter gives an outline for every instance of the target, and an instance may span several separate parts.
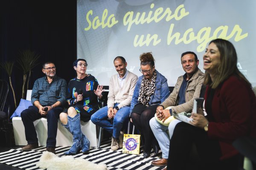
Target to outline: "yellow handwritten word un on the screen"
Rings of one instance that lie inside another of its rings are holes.
[[[148,46],[152,40],[153,40],[153,45],[154,46],[161,42],[161,39],[157,40],[157,38],[158,38],[157,34],[154,34],[151,37],[150,36],[151,36],[150,34],[147,34],[146,40],[143,41],[144,35],[141,35],[139,40],[138,40],[139,35],[135,35],[134,47],[137,47],[138,45],[140,47],[142,47],[143,45]]]

